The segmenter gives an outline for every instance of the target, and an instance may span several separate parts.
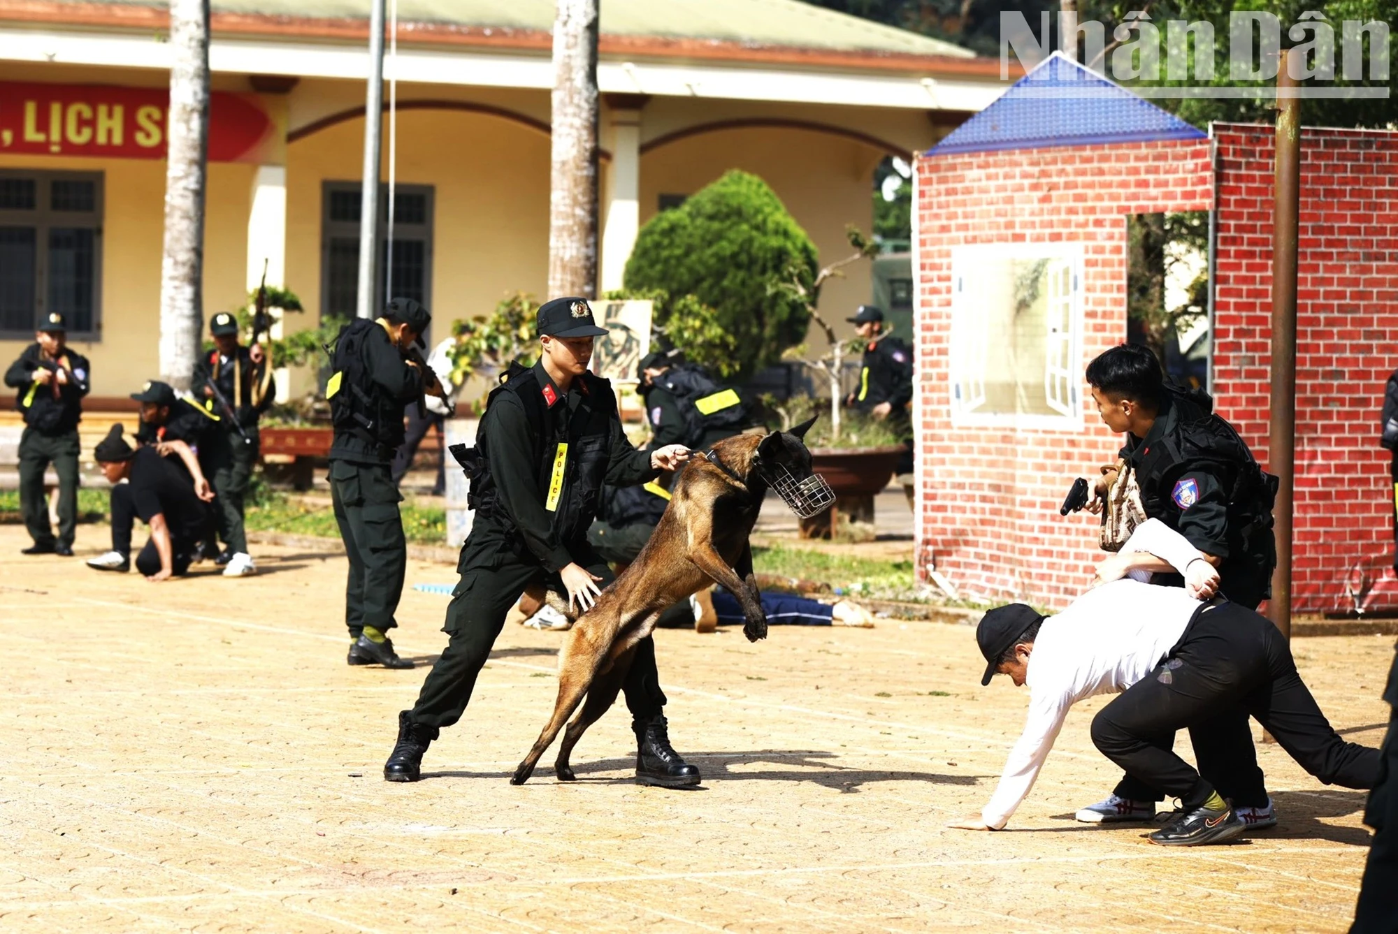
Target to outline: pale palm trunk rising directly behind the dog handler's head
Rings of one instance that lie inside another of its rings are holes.
[[[558,0],[548,295],[597,291],[597,0]]]

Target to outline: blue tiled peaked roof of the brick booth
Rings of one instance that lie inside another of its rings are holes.
[[[1173,113],[1054,52],[927,154],[1202,138]]]

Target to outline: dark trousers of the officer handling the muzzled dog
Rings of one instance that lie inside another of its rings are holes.
[[[470,543],[466,547],[471,548]],[[603,579],[600,586],[612,582],[611,568],[590,548],[570,547],[569,551],[577,563]],[[475,689],[475,678],[505,628],[505,614],[526,587],[548,582],[542,568],[514,555],[502,559],[498,552],[463,552],[461,565],[461,580],[452,591],[446,625],[442,626],[449,636],[446,649],[428,673],[408,714],[412,723],[422,726],[449,727],[461,719]],[[561,589],[556,577],[554,586]],[[660,689],[656,643],[650,636],[636,646],[622,691],[633,728],[664,712],[665,695]]]

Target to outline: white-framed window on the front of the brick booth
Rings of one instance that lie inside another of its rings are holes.
[[[1082,245],[952,249],[956,426],[1082,431]]]

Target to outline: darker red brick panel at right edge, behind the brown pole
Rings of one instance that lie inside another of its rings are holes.
[[[1213,134],[1213,394],[1265,466],[1274,130]],[[1303,131],[1299,246],[1292,605],[1350,610],[1356,563],[1383,583],[1392,554],[1390,454],[1377,439],[1384,380],[1398,366],[1398,133]],[[1384,590],[1380,603],[1398,603]]]

